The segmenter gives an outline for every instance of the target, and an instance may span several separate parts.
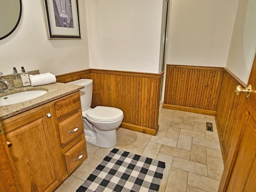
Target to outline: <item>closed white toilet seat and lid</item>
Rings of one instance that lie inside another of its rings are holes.
[[[112,122],[123,118],[122,110],[114,107],[96,106],[86,113],[86,116],[98,122]]]

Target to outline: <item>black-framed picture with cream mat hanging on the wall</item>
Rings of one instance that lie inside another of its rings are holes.
[[[44,0],[49,39],[81,39],[78,0]]]

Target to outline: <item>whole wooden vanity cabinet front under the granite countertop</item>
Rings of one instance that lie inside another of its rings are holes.
[[[52,192],[87,158],[79,91],[2,122],[18,191]]]

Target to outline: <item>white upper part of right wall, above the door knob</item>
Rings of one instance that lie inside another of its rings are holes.
[[[247,83],[256,52],[256,0],[240,0],[226,67]]]

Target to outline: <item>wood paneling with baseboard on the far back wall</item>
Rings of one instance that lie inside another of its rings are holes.
[[[164,108],[214,115],[222,72],[218,67],[168,64]]]

